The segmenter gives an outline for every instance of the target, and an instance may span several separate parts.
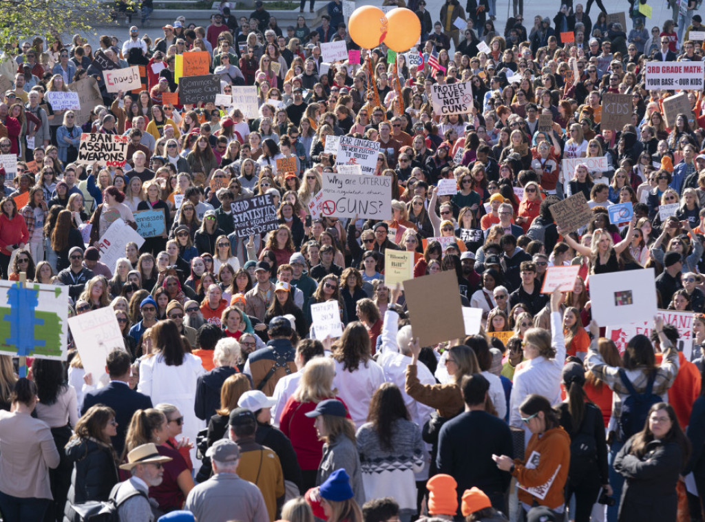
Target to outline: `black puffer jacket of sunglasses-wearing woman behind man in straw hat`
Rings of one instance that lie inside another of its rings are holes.
[[[110,490],[120,482],[112,448],[93,439],[74,439],[65,451],[73,466],[68,502],[107,500]]]

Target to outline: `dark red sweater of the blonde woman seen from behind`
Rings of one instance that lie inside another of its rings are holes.
[[[336,397],[343,404],[345,402],[340,397]],[[318,439],[314,418],[307,417],[305,413],[314,411],[316,403],[295,401],[293,396],[286,401],[284,410],[279,418],[279,429],[289,437],[291,445],[296,451],[296,459],[302,470],[318,469],[321,459],[323,459],[323,441]],[[345,406],[348,409],[348,406]],[[350,414],[345,415],[350,418]]]

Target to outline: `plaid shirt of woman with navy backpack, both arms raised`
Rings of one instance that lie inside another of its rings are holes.
[[[654,380],[653,393],[661,395],[664,401],[668,401],[668,389],[673,385],[675,376],[678,375],[678,351],[671,346],[669,341],[661,341],[663,350],[663,361],[661,366],[656,370],[656,379]],[[612,395],[612,419],[620,418],[622,411],[622,401],[629,396],[629,391],[625,387],[622,379],[619,376],[620,368],[609,366],[602,360],[602,356],[597,351],[597,339],[593,339],[590,344],[590,349],[585,357],[585,364],[595,377],[605,382],[614,394]],[[646,385],[649,384],[649,375],[643,369],[626,370],[627,378],[632,382],[632,386],[638,393],[644,393]]]

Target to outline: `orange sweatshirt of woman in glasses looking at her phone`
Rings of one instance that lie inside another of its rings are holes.
[[[565,481],[568,480],[568,468],[570,468],[570,435],[560,426],[546,430],[541,437],[534,434],[529,439],[525,456],[527,456],[526,464],[520,459],[514,459],[515,468],[512,472],[520,484],[520,501],[530,506],[535,499],[539,505],[548,506],[551,509],[562,506],[565,502],[563,488]],[[544,499],[521,489],[521,487],[543,489],[551,478],[553,482],[545,492]]]

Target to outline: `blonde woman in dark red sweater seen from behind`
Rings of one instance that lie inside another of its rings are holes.
[[[290,396],[279,418],[279,429],[290,438],[302,473],[302,488],[316,484],[319,463],[323,456],[323,442],[316,435],[314,420],[307,413],[326,399],[342,399],[333,389],[335,365],[333,360],[314,357],[304,366],[298,387]],[[348,415],[350,418],[350,415]]]

